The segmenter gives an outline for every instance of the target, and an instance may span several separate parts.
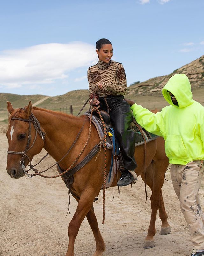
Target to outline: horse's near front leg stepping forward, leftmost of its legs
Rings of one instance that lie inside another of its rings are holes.
[[[74,243],[77,237],[79,228],[81,226],[82,221],[84,220],[87,213],[90,211],[91,206],[93,204],[93,200],[96,197],[96,192],[91,188],[86,188],[82,192],[80,196],[80,200],[77,206],[77,210],[74,213],[72,220],[68,226],[68,249],[66,256],[74,256]]]

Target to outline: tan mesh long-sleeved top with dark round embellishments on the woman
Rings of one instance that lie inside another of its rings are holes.
[[[90,98],[97,84],[102,84],[102,89],[97,89],[95,98],[108,95],[125,95],[128,91],[125,70],[119,62],[110,60],[105,63],[99,60],[94,66],[89,67],[88,72]]]

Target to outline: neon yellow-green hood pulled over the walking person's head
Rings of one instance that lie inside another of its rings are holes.
[[[173,104],[171,96],[167,91],[171,92],[175,96],[179,106]],[[176,74],[172,76],[162,89],[162,94],[164,96],[164,99],[170,105],[177,108],[184,108],[188,105],[191,105],[194,101],[192,99],[193,95],[191,92],[191,84],[185,74]]]

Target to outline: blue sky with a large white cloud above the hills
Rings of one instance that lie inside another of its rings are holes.
[[[108,38],[127,83],[204,54],[203,0],[7,0],[0,8],[0,92],[87,89],[95,42]]]

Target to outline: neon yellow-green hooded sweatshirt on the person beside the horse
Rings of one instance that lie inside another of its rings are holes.
[[[179,106],[172,103],[171,92]],[[165,152],[171,164],[187,164],[204,159],[204,107],[192,99],[191,85],[185,74],[172,76],[162,89],[170,104],[156,114],[132,105],[137,122],[148,132],[164,137]]]

